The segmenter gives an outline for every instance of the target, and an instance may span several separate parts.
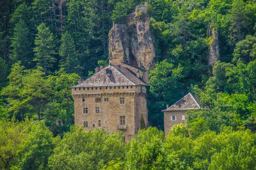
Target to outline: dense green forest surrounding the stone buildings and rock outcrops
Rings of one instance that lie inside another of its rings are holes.
[[[113,23],[143,1],[0,1],[1,169],[255,169],[256,0],[147,2],[153,127],[124,144],[121,133],[73,126],[70,86],[108,65]],[[163,138],[161,110],[187,92],[209,109],[187,112]]]

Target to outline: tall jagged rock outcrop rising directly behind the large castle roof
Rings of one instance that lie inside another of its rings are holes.
[[[146,6],[146,3],[137,6],[135,14],[127,15],[127,25],[113,24],[109,33],[111,64],[122,65],[122,62],[126,62],[146,70],[154,68],[156,48]]]

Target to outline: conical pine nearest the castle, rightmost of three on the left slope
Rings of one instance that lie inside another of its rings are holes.
[[[61,57],[59,66],[64,68],[67,73],[79,72],[78,52],[74,40],[68,32],[65,32],[61,37],[59,55]]]

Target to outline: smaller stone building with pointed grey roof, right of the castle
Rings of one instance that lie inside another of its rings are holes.
[[[192,109],[201,109],[200,99],[191,93],[188,93],[171,107],[162,110],[164,112],[164,134],[169,133],[175,124],[185,124],[186,111]]]

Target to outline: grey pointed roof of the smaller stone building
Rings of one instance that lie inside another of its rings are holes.
[[[191,93],[188,93],[175,104],[162,111],[201,109],[199,104],[200,99]]]

